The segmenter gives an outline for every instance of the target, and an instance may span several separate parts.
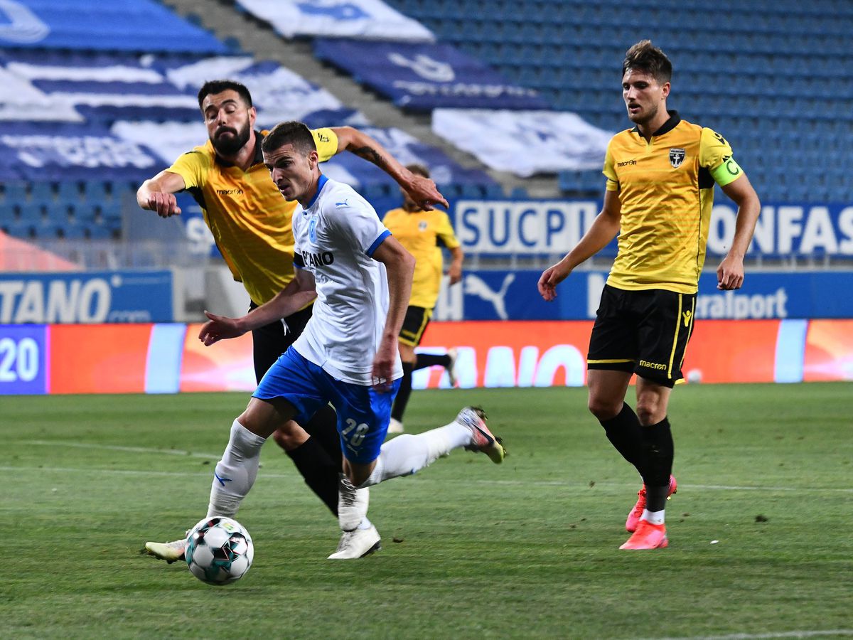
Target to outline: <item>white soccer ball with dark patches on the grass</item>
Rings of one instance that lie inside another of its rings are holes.
[[[228,585],[241,579],[252,566],[254,555],[252,536],[230,518],[205,518],[187,534],[187,566],[208,585]]]

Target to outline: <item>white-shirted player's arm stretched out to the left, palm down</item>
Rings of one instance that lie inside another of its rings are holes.
[[[281,289],[275,298],[264,302],[243,317],[217,316],[210,311],[205,311],[207,322],[199,331],[199,340],[205,346],[211,346],[219,340],[237,338],[247,331],[264,327],[276,320],[281,320],[282,317],[292,315],[315,298],[314,276],[310,271],[297,269],[293,280],[287,282],[287,287]]]

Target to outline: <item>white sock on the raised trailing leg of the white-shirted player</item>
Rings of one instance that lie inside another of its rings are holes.
[[[400,475],[411,475],[434,463],[457,447],[471,444],[471,431],[450,422],[425,433],[403,433],[388,440],[380,449],[376,467],[360,487],[378,485]]]

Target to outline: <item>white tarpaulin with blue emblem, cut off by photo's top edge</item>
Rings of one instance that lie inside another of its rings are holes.
[[[380,0],[237,0],[285,38],[322,36],[432,42],[427,27]]]

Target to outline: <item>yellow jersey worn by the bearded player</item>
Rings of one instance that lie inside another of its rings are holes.
[[[245,172],[219,159],[210,140],[166,171],[183,177],[234,279],[243,283],[255,304],[263,305],[293,280],[291,221],[296,201],[281,196],[264,166],[261,141],[268,131],[255,133],[255,156]],[[311,133],[321,161],[337,153],[334,131]]]

